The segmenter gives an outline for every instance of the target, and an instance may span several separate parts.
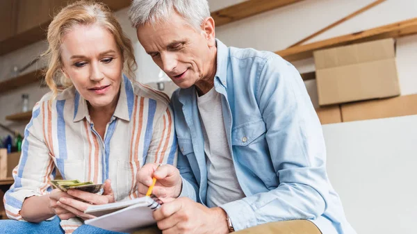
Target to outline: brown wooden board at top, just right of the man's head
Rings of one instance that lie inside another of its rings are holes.
[[[298,1],[302,0],[249,0],[211,12],[211,17],[214,19],[215,26],[222,26]]]

